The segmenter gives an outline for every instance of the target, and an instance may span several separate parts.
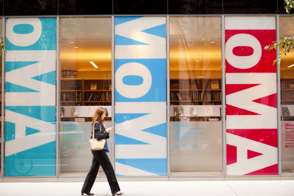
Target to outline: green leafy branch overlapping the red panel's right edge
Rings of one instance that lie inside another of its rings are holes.
[[[283,55],[287,55],[290,52],[290,49],[294,48],[294,37],[285,37],[284,39],[280,39],[278,41],[274,41],[274,44],[265,46],[264,49],[270,51],[271,49],[277,49],[278,47],[282,47],[283,51],[280,55],[274,60],[273,64],[280,63]]]

